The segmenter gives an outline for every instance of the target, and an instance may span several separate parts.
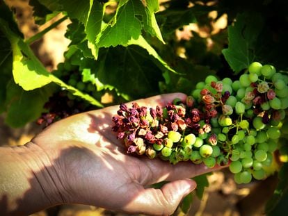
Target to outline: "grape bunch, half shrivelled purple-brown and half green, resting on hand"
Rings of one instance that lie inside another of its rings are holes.
[[[237,183],[266,178],[288,108],[288,76],[252,63],[239,80],[207,76],[186,101],[120,105],[113,131],[127,153],[207,167],[230,162]]]

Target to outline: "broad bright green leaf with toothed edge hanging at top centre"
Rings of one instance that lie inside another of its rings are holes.
[[[131,38],[134,40],[139,38],[142,26],[136,17],[135,3],[136,1],[128,1],[120,7],[114,22],[99,33],[96,40],[97,47],[116,47],[127,44]]]

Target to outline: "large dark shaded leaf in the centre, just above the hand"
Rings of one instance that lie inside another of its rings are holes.
[[[134,45],[100,49],[95,71],[99,82],[132,99],[157,94],[163,79],[147,51]]]

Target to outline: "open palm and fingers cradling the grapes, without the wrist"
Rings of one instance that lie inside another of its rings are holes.
[[[184,94],[163,94],[136,101],[140,106],[165,106]],[[45,153],[40,177],[45,193],[56,203],[83,203],[127,213],[172,214],[182,198],[195,189],[190,178],[221,167],[178,163],[127,155],[111,131],[118,106],[62,119],[37,135],[33,144]],[[33,145],[31,144],[31,145]],[[161,189],[149,185],[169,181]],[[47,186],[47,185],[51,185]],[[53,194],[51,193],[53,191]]]

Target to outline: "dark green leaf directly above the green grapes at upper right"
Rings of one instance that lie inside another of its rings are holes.
[[[248,68],[255,59],[255,44],[263,24],[258,13],[241,13],[228,27],[229,47],[222,52],[236,74]]]

